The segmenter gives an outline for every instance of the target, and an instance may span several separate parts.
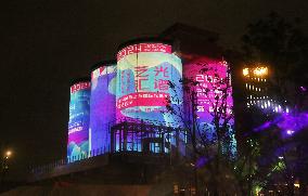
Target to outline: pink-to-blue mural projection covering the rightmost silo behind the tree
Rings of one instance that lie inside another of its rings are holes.
[[[202,127],[206,127],[207,138],[215,140],[214,123],[216,109],[226,109],[226,116],[218,118],[220,125],[228,121],[232,152],[235,153],[236,141],[234,138],[232,117],[232,87],[231,76],[228,74],[226,61],[211,60],[207,57],[193,57],[184,65],[184,77],[196,81],[197,84],[191,87],[196,92],[196,115]],[[223,95],[227,95],[223,99]],[[185,95],[187,96],[187,95]],[[228,120],[226,120],[228,119]]]

